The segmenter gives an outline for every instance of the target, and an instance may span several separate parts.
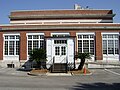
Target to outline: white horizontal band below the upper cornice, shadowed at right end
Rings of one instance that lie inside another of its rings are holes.
[[[56,24],[76,24],[76,23],[100,23],[100,22],[113,22],[113,20],[102,20],[102,19],[78,19],[78,20],[22,20],[22,21],[10,21],[11,24],[32,24],[32,23],[38,23],[38,24],[45,24],[45,23],[56,23]]]

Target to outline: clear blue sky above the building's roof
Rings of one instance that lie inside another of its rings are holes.
[[[112,9],[120,23],[120,0],[0,0],[0,24],[8,24],[12,10],[73,9],[74,4],[92,9]]]

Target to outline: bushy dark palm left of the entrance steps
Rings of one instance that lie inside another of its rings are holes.
[[[45,49],[33,49],[30,54],[30,61],[35,61],[38,68],[41,69],[42,63],[47,61]]]

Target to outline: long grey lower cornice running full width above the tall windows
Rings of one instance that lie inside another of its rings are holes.
[[[120,30],[120,26],[40,26],[40,27],[15,27],[15,28],[2,28],[1,30]]]

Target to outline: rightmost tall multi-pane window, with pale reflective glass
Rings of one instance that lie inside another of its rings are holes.
[[[103,34],[102,41],[103,41],[103,54],[118,54],[118,34]]]

